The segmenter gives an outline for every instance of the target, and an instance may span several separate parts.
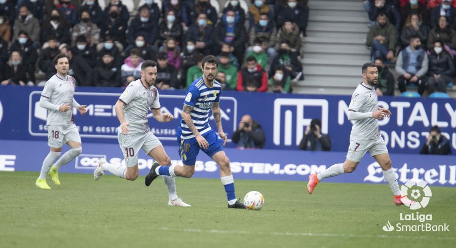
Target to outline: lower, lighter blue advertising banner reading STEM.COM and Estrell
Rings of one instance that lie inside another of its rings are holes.
[[[49,153],[46,141],[0,140],[0,171],[36,171]],[[64,152],[67,147],[64,148]],[[33,151],[33,156],[30,155]],[[172,164],[182,165],[178,146],[165,146]],[[307,152],[280,150],[239,150],[226,148],[235,179],[308,181],[311,173],[345,161],[343,152]],[[109,163],[125,163],[117,144],[84,143],[83,152],[61,168],[61,172],[92,174],[98,159]],[[203,153],[197,158],[194,177],[219,178],[217,164]],[[393,170],[402,184],[408,179],[422,179],[434,186],[456,186],[456,160],[454,156],[391,154]],[[145,175],[154,160],[139,153],[139,174]],[[92,175],[87,180],[93,180]],[[385,184],[382,168],[366,155],[358,168],[350,173],[324,179],[325,182]],[[30,182],[33,183],[33,182]],[[302,190],[306,190],[303,185]]]

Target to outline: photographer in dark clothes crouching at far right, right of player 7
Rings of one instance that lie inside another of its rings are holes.
[[[426,144],[421,148],[420,154],[432,154],[432,155],[450,155],[451,148],[449,146],[449,140],[443,136],[438,126],[433,126],[429,130],[428,140]]]

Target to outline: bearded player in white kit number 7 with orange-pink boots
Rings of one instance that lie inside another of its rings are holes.
[[[402,205],[401,191],[397,183],[396,175],[391,168],[391,159],[388,154],[385,141],[380,135],[378,120],[390,117],[391,112],[377,106],[377,95],[375,84],[378,82],[378,70],[372,63],[366,63],[362,69],[363,82],[353,92],[349,106],[348,119],[355,121],[350,134],[350,146],[347,159],[343,164],[335,164],[321,171],[318,174],[309,176],[307,190],[310,194],[323,178],[333,177],[344,173],[353,172],[361,161],[362,157],[369,151],[370,156],[382,167],[383,176],[390,185],[394,195],[394,203]]]

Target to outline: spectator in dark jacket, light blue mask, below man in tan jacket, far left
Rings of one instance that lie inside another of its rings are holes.
[[[35,81],[35,64],[38,60],[36,47],[30,40],[27,32],[19,31],[18,39],[11,45],[10,52],[18,51],[21,55],[21,65],[25,67],[30,81]]]

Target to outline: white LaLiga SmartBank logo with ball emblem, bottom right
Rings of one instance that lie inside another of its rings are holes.
[[[410,179],[401,186],[401,201],[409,207],[410,210],[417,210],[426,208],[431,199],[432,192],[427,182],[421,179]],[[443,223],[443,225],[436,225],[430,223],[432,220],[432,214],[420,214],[420,212],[411,214],[399,214],[399,220],[402,222],[392,225],[388,220],[387,224],[383,226],[383,230],[386,232],[447,232],[449,231],[449,225]],[[405,223],[404,223],[405,222]],[[418,224],[409,224],[409,222],[420,222]]]

